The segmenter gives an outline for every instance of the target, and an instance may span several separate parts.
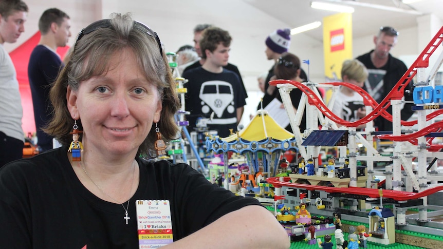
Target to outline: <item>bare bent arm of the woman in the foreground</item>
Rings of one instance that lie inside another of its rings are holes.
[[[162,248],[289,248],[288,234],[265,208],[249,205]]]

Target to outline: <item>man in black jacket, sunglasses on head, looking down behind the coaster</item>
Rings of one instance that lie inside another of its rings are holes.
[[[394,58],[389,52],[397,43],[398,32],[392,27],[381,27],[378,35],[374,36],[375,49],[360,55],[357,60],[362,62],[369,73],[364,83],[366,90],[376,101],[380,103],[393,89],[403,74],[408,70],[402,61]],[[412,101],[411,80],[409,87],[405,88],[405,101]],[[392,106],[387,108],[392,114]],[[405,103],[401,110],[401,119],[408,120],[413,114],[412,103]],[[392,122],[382,117],[375,120],[375,126],[379,131],[392,131]]]

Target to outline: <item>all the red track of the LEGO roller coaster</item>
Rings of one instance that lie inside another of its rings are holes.
[[[409,85],[412,78],[417,74],[417,68],[424,68],[429,66],[429,57],[430,55],[436,50],[436,48],[442,43],[443,41],[443,27],[440,28],[440,30],[437,32],[437,34],[434,36],[434,38],[431,40],[431,42],[428,44],[428,46],[421,52],[421,54],[418,56],[417,60],[412,64],[412,66],[406,71],[402,78],[397,82],[397,84],[394,86],[392,91],[386,95],[386,97],[381,101],[380,104],[378,104],[366,91],[364,91],[361,88],[358,88],[352,84],[347,83],[323,83],[323,84],[329,84],[329,85],[344,85],[349,88],[352,88],[356,92],[358,92],[364,100],[365,105],[370,105],[373,107],[373,111],[371,113],[366,114],[366,117],[355,121],[355,122],[348,122],[341,118],[339,118],[336,114],[331,112],[326,105],[323,103],[323,101],[313,92],[308,86],[301,84],[299,82],[295,81],[289,81],[289,80],[275,80],[269,82],[271,85],[278,85],[278,84],[291,84],[299,88],[302,92],[304,92],[307,96],[308,103],[310,105],[315,105],[317,108],[324,114],[325,117],[329,118],[331,121],[340,124],[345,125],[348,127],[357,127],[359,125],[365,124],[367,122],[373,121],[375,118],[382,116],[385,119],[392,122],[392,115],[386,111],[386,109],[391,105],[391,100],[400,100],[403,97],[403,92],[405,87]],[[431,120],[438,115],[443,113],[443,110],[437,110],[434,111],[427,116],[427,120]],[[401,124],[404,126],[412,126],[417,124],[417,120],[415,121],[401,121]],[[390,139],[394,141],[409,141],[415,145],[417,145],[418,141],[417,138],[427,135],[430,132],[433,131],[441,131],[443,126],[443,121],[433,123],[429,125],[428,127],[425,127],[419,131],[416,131],[414,133],[408,134],[408,135],[402,135],[402,136],[392,136],[392,135],[380,135],[380,138],[383,139]],[[428,139],[428,142],[430,142],[432,139]],[[434,146],[433,148],[430,148],[430,150],[438,150],[441,146]],[[308,184],[299,184],[299,183],[291,183],[288,182],[290,180],[289,177],[285,177],[283,181],[279,180],[279,177],[271,177],[266,179],[268,183],[273,184],[276,187],[281,186],[287,186],[292,188],[302,188],[307,190],[323,190],[327,193],[342,193],[342,194],[351,194],[351,195],[360,195],[360,196],[367,196],[369,198],[379,198],[380,197],[380,190],[374,189],[374,188],[364,188],[364,191],[361,187],[344,187],[344,188],[337,188],[337,187],[327,187],[327,186],[316,186],[316,185],[308,185]],[[427,188],[419,193],[411,193],[406,191],[398,191],[398,190],[381,190],[383,198],[390,198],[396,201],[406,201],[406,200],[413,200],[413,199],[419,199],[425,196],[429,196],[431,194],[436,193],[437,191],[443,190],[443,186],[437,186],[432,188]]]

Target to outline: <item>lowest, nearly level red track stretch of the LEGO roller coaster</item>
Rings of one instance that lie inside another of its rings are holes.
[[[283,182],[279,180],[279,177],[270,177],[266,179],[266,181],[268,183],[271,183],[274,187],[287,186],[287,187],[302,188],[307,190],[322,190],[327,193],[340,193],[340,194],[367,196],[369,198],[380,198],[380,192],[379,192],[380,189],[376,188],[327,187],[327,186],[317,186],[317,185],[309,185],[301,183],[292,183],[288,182],[289,180],[290,180],[289,177],[284,177]],[[440,190],[443,190],[443,186],[427,188],[419,193],[382,189],[382,194],[383,198],[389,198],[396,201],[407,201],[407,200],[414,200],[425,196],[429,196]]]

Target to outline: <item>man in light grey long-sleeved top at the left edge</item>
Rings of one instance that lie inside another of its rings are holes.
[[[4,43],[25,31],[28,6],[21,0],[0,1],[0,167],[23,157],[23,108],[19,82]]]

